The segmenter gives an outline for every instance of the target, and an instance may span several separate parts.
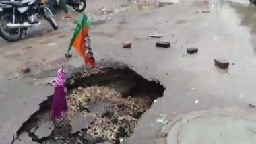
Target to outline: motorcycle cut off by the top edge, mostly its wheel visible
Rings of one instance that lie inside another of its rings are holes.
[[[42,0],[42,3],[47,4],[49,0]],[[66,0],[65,3],[71,7],[73,7],[73,9],[75,9],[75,11],[81,13],[84,11],[84,9],[86,9],[86,0]]]

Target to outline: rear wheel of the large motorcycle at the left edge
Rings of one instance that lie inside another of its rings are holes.
[[[23,30],[22,28],[7,29],[7,24],[12,23],[13,14],[12,13],[1,13],[0,15],[0,36],[9,41],[17,42],[22,38]],[[21,23],[19,17],[15,17],[15,23]]]

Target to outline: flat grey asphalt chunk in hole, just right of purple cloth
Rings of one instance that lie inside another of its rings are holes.
[[[78,115],[78,116],[75,116],[74,118],[71,118],[71,123],[70,123],[72,127],[71,133],[76,133],[77,131],[81,131],[82,129],[87,129],[92,122],[94,122],[94,118],[92,115],[88,115],[88,116]]]

